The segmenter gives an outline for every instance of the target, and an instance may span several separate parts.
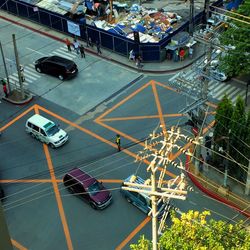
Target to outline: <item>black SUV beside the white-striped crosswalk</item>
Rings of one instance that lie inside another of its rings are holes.
[[[39,73],[56,76],[60,80],[71,78],[78,72],[77,65],[60,56],[46,56],[35,61],[35,69]]]

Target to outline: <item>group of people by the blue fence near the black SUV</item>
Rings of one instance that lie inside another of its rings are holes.
[[[72,47],[74,49],[74,51],[81,56],[81,58],[85,58],[86,55],[85,55],[85,48],[83,46],[83,44],[80,44],[77,39],[74,39],[73,42],[71,42],[68,38],[65,39],[65,43],[66,43],[66,46],[68,48],[68,52],[71,52],[72,51]],[[89,37],[87,39],[87,47],[93,47],[93,43],[92,43],[92,40],[91,38]],[[101,45],[100,45],[100,42],[97,41],[96,42],[96,48],[97,48],[97,53],[100,55],[102,54],[102,51],[101,51]]]

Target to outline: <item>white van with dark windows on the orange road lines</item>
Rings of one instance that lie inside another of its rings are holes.
[[[68,134],[54,122],[41,115],[31,116],[25,124],[26,132],[52,148],[62,146],[68,139]]]

